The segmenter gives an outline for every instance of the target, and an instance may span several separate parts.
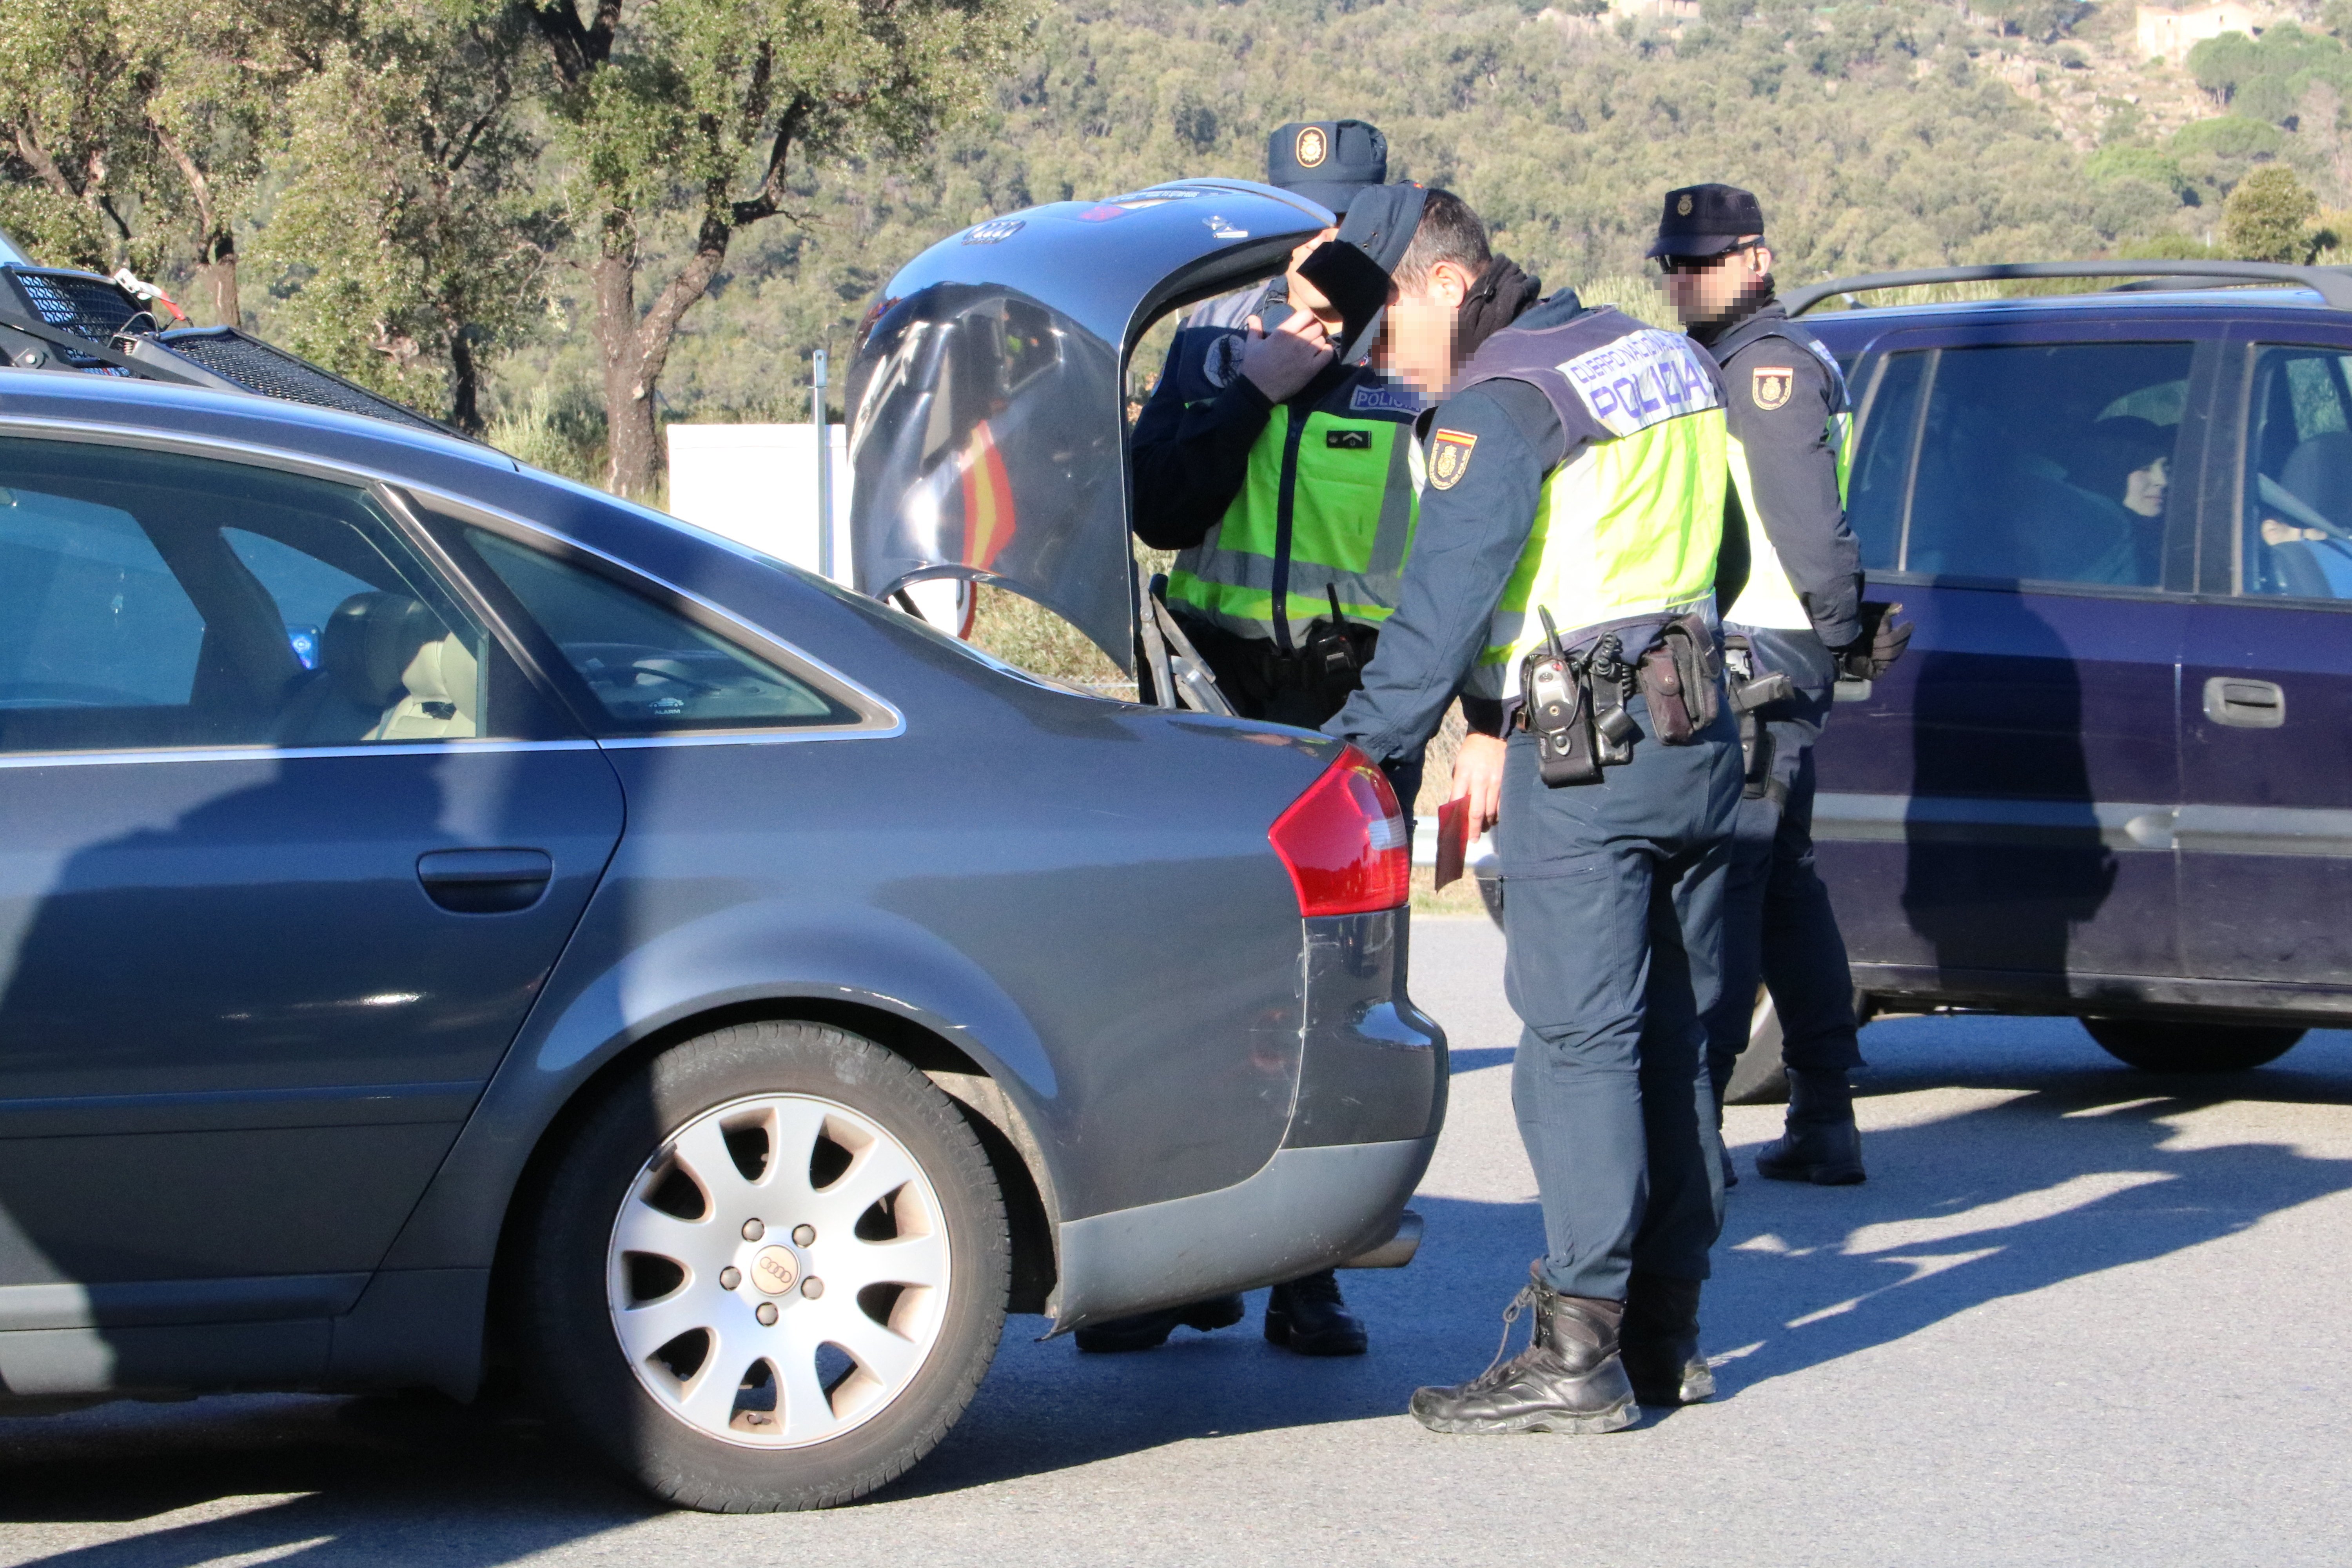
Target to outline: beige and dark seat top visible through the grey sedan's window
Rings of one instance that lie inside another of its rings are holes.
[[[355,592],[318,639],[318,675],[278,724],[280,745],[463,741],[477,726],[473,649],[405,592]]]

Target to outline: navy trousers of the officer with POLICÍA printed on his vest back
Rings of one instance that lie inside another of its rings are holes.
[[[1724,856],[1740,797],[1729,705],[1693,745],[1642,724],[1632,762],[1548,788],[1510,738],[1496,849],[1512,1107],[1543,1201],[1545,1281],[1625,1298],[1632,1269],[1705,1279],[1724,1225],[1703,1018],[1719,990]]]

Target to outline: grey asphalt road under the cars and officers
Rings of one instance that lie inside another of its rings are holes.
[[[1345,1276],[1362,1361],[1251,1324],[1080,1356],[1014,1319],[901,1486],[663,1514],[513,1410],[245,1396],[0,1420],[0,1563],[2345,1563],[2352,1034],[2147,1077],[2070,1023],[1872,1025],[1870,1185],[1750,1178],[1724,1396],[1592,1436],[1432,1436],[1541,1244],[1484,922],[1416,926],[1456,1041],[1421,1258]],[[1743,1166],[1776,1110],[1736,1110]]]

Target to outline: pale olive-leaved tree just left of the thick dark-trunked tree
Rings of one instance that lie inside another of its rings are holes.
[[[557,240],[515,125],[510,7],[365,0],[287,99],[259,256],[287,348],[480,433],[485,357],[546,303]]]

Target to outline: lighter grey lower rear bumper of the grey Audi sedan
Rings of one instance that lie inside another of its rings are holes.
[[[1437,1135],[1279,1150],[1244,1182],[1061,1227],[1054,1333],[1282,1284],[1397,1234]]]

